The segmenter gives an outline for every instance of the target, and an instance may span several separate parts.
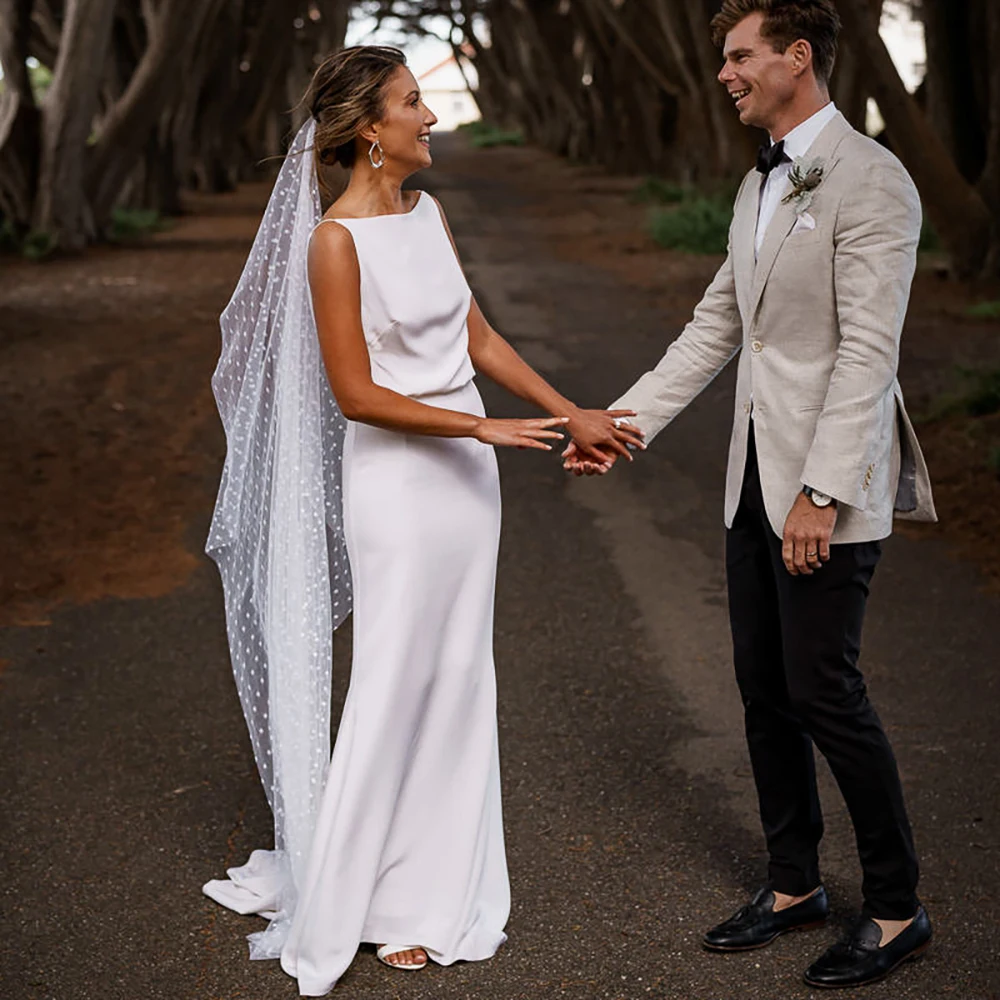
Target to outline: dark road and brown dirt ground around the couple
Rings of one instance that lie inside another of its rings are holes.
[[[568,395],[609,401],[659,357],[715,262],[652,254],[624,182],[529,150],[442,139],[436,151],[426,186],[488,314]],[[16,436],[0,473],[23,484],[0,515],[4,997],[295,996],[275,963],[246,959],[243,935],[259,922],[199,892],[270,830],[217,577],[200,556],[221,462],[207,392],[215,316],[260,195],[202,202],[141,250],[3,264],[2,413]],[[986,349],[980,337],[952,353]],[[931,391],[944,352],[932,340],[918,329],[904,360],[915,394]],[[510,940],[489,963],[415,976],[366,949],[335,996],[810,996],[801,971],[836,923],[751,957],[698,946],[764,868],[721,559],[731,392],[724,376],[601,480],[501,456]],[[484,396],[494,414],[525,412]],[[876,576],[864,667],[900,758],[938,938],[865,997],[1000,994],[988,628],[1000,600],[985,582],[940,529],[894,538]],[[337,637],[338,698],[349,638]],[[825,770],[823,781],[824,871],[842,918],[859,873]]]

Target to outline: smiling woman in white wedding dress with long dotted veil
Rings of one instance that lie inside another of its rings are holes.
[[[252,957],[320,996],[361,942],[406,970],[504,942],[493,446],[551,450],[565,429],[604,462],[642,442],[631,411],[581,410],[521,360],[440,205],[402,189],[437,121],[403,54],[343,50],[307,102],[213,378],[228,452],[208,551],[276,843],[205,892],[269,917]],[[313,157],[351,171],[322,218]],[[487,417],[477,372],[550,416]],[[331,758],[331,634],[352,607]]]

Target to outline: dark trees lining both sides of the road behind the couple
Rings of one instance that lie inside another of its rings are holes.
[[[1000,274],[1000,4],[910,0],[927,75],[910,94],[885,4],[837,0],[834,99],[913,175],[963,274]],[[759,135],[716,80],[719,0],[0,0],[0,215],[65,248],[117,206],[176,211],[279,153],[315,63],[352,12],[450,43],[485,118],[560,155],[695,183],[742,174]],[[471,72],[474,70],[474,72]],[[38,74],[47,73],[44,99]]]

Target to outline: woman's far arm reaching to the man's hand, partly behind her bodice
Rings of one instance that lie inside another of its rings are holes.
[[[437,199],[435,199],[437,202]],[[441,212],[448,238],[458,257],[458,248],[451,235],[451,228],[445,218],[440,202],[437,202]],[[461,259],[459,259],[461,264]],[[584,410],[568,400],[553,386],[542,378],[514,348],[487,322],[475,296],[469,308],[469,357],[476,371],[502,385],[508,392],[520,399],[534,403],[539,409],[551,413],[554,417],[567,417],[566,429],[577,445],[583,445],[585,451],[601,462],[605,461],[605,451],[617,451],[627,458],[632,456],[626,445],[633,444],[643,447],[640,431],[629,425],[616,427],[616,417],[630,417],[634,410]],[[589,446],[589,448],[587,447]]]

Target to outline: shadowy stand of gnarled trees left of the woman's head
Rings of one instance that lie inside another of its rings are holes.
[[[0,215],[76,249],[281,152],[347,0],[0,0]],[[51,74],[43,99],[32,66]]]

